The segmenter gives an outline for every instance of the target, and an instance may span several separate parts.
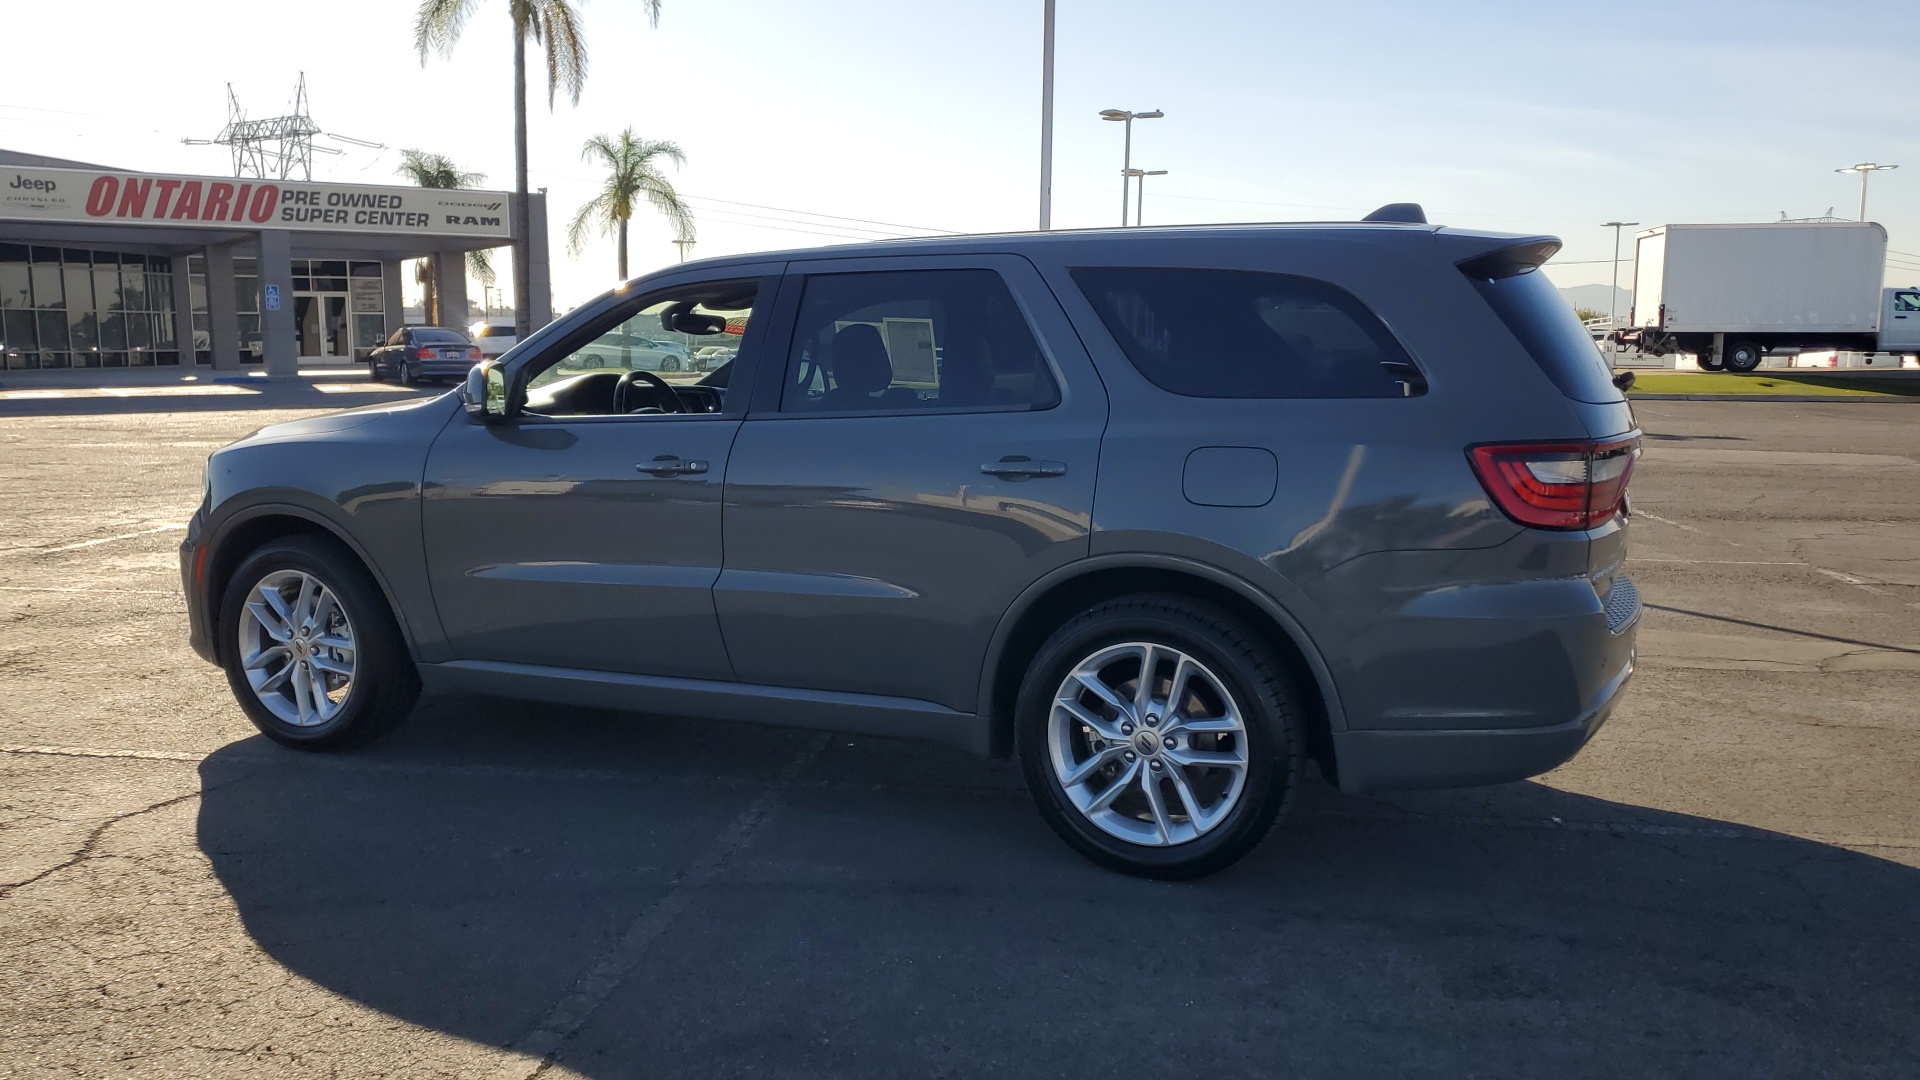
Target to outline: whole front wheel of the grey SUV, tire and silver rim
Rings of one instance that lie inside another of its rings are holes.
[[[221,634],[227,684],[284,746],[371,742],[420,694],[386,598],[338,542],[288,536],[248,555],[227,582]]]

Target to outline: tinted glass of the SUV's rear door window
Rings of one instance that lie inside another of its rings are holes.
[[[993,271],[806,279],[781,411],[1046,409],[1058,402],[1041,346]]]

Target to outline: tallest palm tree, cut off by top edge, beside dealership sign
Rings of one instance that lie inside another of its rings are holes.
[[[420,10],[413,17],[413,44],[420,50],[420,65],[426,65],[426,50],[438,48],[442,56],[453,52],[453,44],[467,29],[480,0],[420,0]],[[660,0],[639,0],[647,10],[647,21],[660,25]],[[532,296],[528,292],[528,263],[532,250],[526,240],[526,40],[547,50],[547,108],[561,86],[566,96],[580,104],[580,88],[588,81],[588,44],[580,37],[580,12],[570,0],[507,0],[507,13],[513,15],[513,321],[520,340],[532,332],[528,313]]]

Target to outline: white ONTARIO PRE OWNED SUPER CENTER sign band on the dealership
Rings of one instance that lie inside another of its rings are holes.
[[[0,169],[0,221],[513,238],[507,192]]]

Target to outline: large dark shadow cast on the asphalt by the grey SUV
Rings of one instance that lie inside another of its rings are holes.
[[[1165,884],[1073,855],[1008,763],[747,724],[430,700],[202,780],[275,961],[497,1047],[572,995],[586,1076],[1920,1070],[1920,871],[1536,782],[1311,782]]]

